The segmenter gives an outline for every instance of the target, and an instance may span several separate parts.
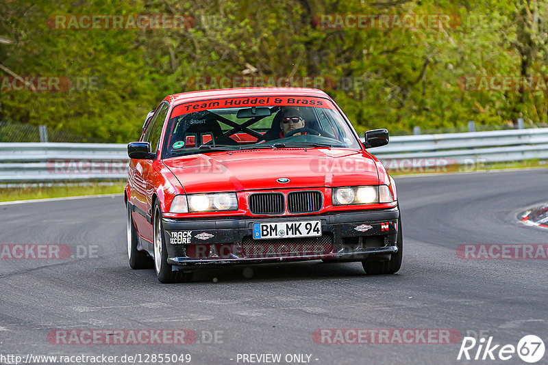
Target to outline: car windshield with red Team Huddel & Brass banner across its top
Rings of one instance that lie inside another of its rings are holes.
[[[177,105],[166,126],[163,146],[164,158],[254,148],[361,147],[331,101],[288,96]]]

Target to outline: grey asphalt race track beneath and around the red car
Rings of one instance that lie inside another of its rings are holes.
[[[191,364],[249,364],[242,354],[252,353],[282,354],[282,364],[287,354],[311,355],[310,364],[525,364],[516,354],[458,361],[460,337],[314,342],[316,329],[455,329],[497,344],[516,346],[528,334],[547,342],[548,261],[463,259],[457,247],[547,244],[548,230],[517,222],[516,213],[548,201],[548,170],[396,181],[405,247],[401,270],[386,276],[364,275],[358,263],[314,261],[210,267],[192,283],[164,285],[153,269],[129,269],[121,195],[1,205],[0,244],[69,245],[77,257],[0,260],[0,353],[190,353]],[[58,344],[55,330],[70,329],[190,329],[197,341]],[[547,363],[548,353],[537,362]]]

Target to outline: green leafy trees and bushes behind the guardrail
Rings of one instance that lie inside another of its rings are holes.
[[[538,0],[14,1],[0,3],[0,76],[93,78],[65,92],[0,92],[0,117],[124,142],[197,77],[301,76],[326,87],[359,133],[548,122],[547,92],[462,90],[460,77],[546,75]],[[52,14],[184,14],[190,29],[51,29]],[[458,14],[453,27],[317,27],[319,14]],[[344,87],[343,87],[344,85]],[[74,85],[73,85],[74,86]]]

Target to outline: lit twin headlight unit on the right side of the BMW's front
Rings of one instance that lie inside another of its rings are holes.
[[[337,187],[333,189],[333,205],[375,204],[393,202],[387,185]]]

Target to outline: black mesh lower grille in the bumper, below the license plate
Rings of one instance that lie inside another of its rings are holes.
[[[297,237],[293,239],[256,240],[251,236],[242,239],[242,253],[245,258],[299,258],[318,256],[333,251],[333,237],[323,234],[319,237]]]

